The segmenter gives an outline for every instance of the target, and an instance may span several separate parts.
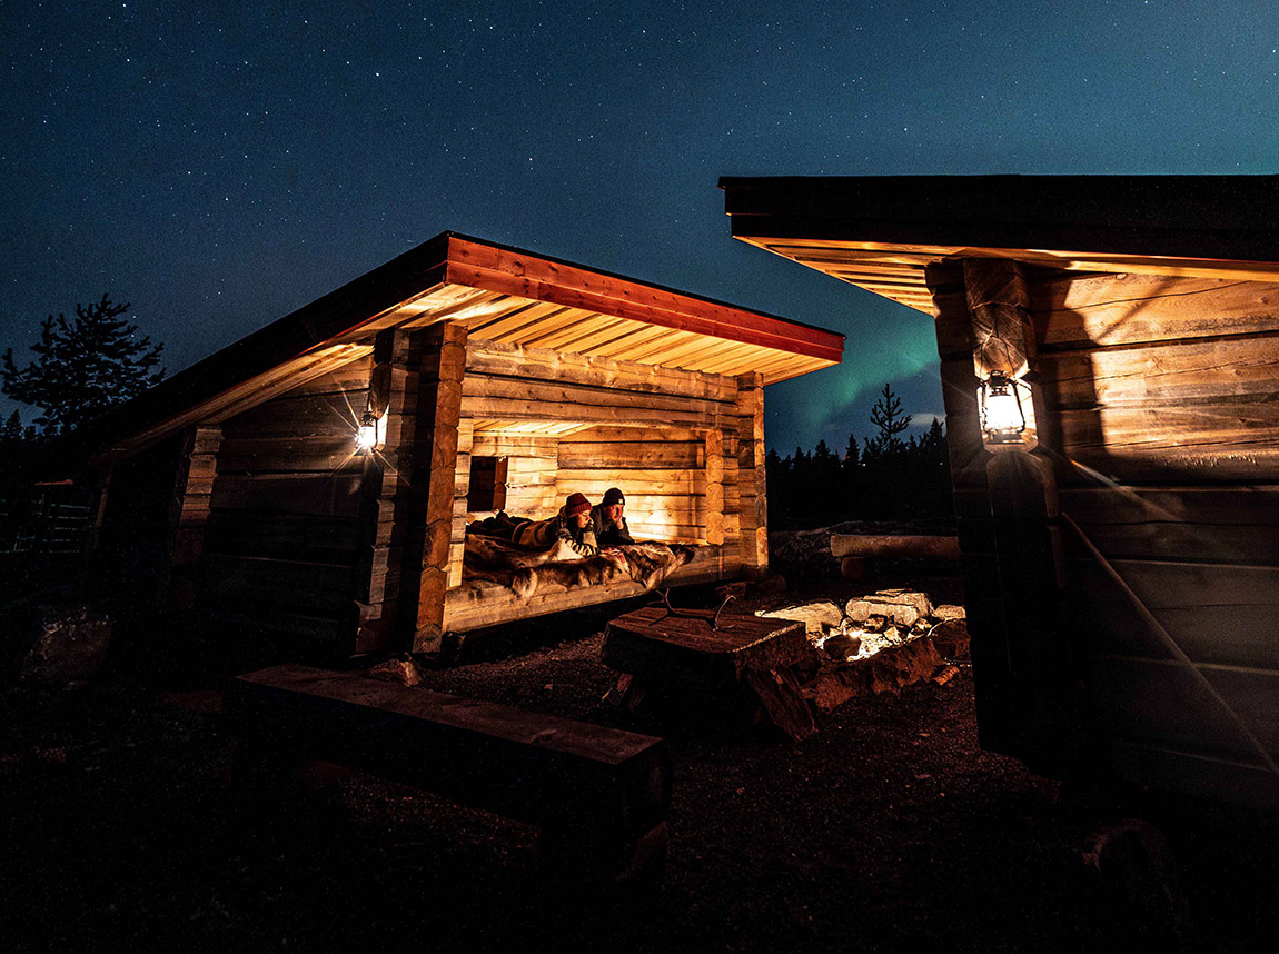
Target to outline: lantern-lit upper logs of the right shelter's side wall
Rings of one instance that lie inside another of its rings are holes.
[[[1032,311],[1073,460],[1143,485],[1279,474],[1279,285],[1059,279],[1035,286]]]

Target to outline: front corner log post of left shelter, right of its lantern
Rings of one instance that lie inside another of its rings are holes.
[[[381,486],[370,508],[376,529],[361,648],[439,648],[449,584],[466,334],[464,326],[445,322],[377,336],[373,373],[388,382],[386,442],[377,453]]]

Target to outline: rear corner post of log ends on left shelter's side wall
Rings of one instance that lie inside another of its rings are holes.
[[[223,428],[217,425],[187,428],[170,508],[169,602],[191,609],[196,600],[196,568],[205,547],[208,501],[217,476],[217,449]]]

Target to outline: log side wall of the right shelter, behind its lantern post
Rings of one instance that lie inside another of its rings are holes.
[[[978,715],[984,740],[1033,757],[1017,724],[1051,679],[1018,670],[1039,623],[1009,611],[982,556],[996,487],[971,398],[971,316],[941,278],[969,619],[991,624],[973,633]],[[1033,457],[1055,472],[1060,515],[1045,526],[1067,625],[1040,662],[1074,660],[1118,774],[1279,804],[1279,285],[1041,274],[1030,308],[1045,409]]]

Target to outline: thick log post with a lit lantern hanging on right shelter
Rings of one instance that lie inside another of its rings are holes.
[[[1069,643],[1060,611],[1056,482],[1022,385],[1019,442],[986,441],[981,381],[1035,371],[1035,334],[1018,262],[967,258],[929,269],[964,574],[982,746],[1056,774],[1069,758]],[[1036,407],[1037,404],[1037,407]],[[1032,453],[1035,451],[1035,453]]]

